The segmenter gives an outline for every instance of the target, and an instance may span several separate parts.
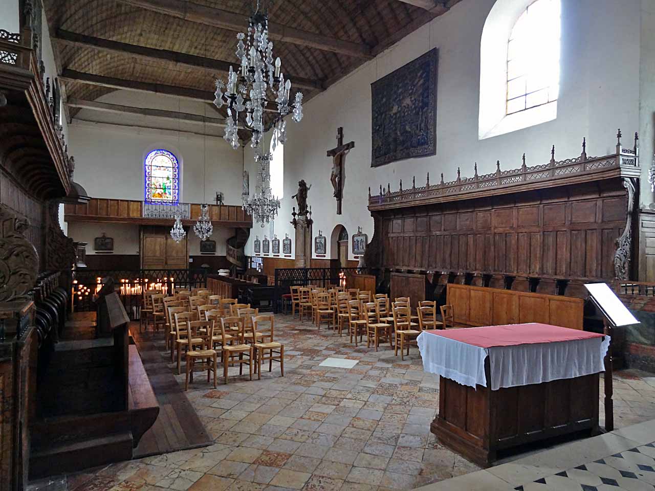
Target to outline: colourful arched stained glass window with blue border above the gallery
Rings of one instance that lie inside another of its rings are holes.
[[[168,150],[153,150],[145,157],[145,201],[178,204],[179,163]]]

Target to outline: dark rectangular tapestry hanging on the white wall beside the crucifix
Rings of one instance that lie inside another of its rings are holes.
[[[437,153],[434,48],[371,84],[371,167]]]

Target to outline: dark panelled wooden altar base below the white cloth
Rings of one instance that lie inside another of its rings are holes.
[[[489,361],[486,371],[489,380]],[[527,386],[476,389],[441,377],[439,414],[430,431],[471,462],[489,467],[496,453],[598,427],[599,374]]]

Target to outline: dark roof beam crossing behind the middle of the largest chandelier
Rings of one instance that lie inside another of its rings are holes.
[[[223,60],[214,60],[213,58],[204,58],[204,56],[196,56],[194,54],[180,53],[177,51],[160,50],[157,48],[147,48],[146,46],[129,45],[119,41],[111,41],[110,39],[102,39],[100,37],[92,37],[84,34],[74,33],[58,29],[56,37],[58,41],[67,43],[74,46],[83,46],[84,48],[94,48],[98,50],[113,52],[126,56],[136,56],[138,58],[145,58],[147,60],[158,60],[172,62],[178,65],[184,65],[192,68],[202,68],[208,71],[229,71],[232,65],[234,69],[238,70],[238,65]],[[295,75],[285,74],[291,83],[299,88],[309,88],[310,90],[323,90],[323,82],[303,77],[296,77]]]

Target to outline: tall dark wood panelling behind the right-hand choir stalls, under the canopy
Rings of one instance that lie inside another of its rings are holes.
[[[627,192],[607,179],[373,215],[386,268],[609,280]]]

